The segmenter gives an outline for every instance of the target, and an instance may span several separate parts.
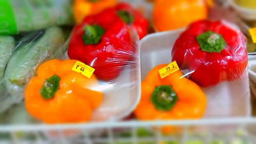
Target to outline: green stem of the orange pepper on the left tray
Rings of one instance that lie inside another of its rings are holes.
[[[45,100],[52,99],[59,89],[59,81],[60,77],[56,74],[47,78],[40,90],[41,97]]]

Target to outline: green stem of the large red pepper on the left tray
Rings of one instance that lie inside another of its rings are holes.
[[[97,24],[84,26],[84,34],[82,35],[84,45],[99,43],[104,33],[105,30]]]

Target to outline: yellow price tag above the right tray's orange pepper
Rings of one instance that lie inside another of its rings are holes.
[[[179,66],[177,65],[176,61],[170,63],[166,67],[159,70],[159,74],[161,78],[164,78],[168,76],[169,74],[172,74],[179,70]]]

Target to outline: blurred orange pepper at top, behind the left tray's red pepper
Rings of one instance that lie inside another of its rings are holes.
[[[94,15],[105,8],[114,7],[117,0],[75,0],[73,5],[76,23],[80,23],[84,17]]]

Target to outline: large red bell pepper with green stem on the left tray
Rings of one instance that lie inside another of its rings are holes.
[[[97,78],[115,79],[135,55],[127,24],[114,9],[86,17],[71,34],[68,55],[95,69]]]

